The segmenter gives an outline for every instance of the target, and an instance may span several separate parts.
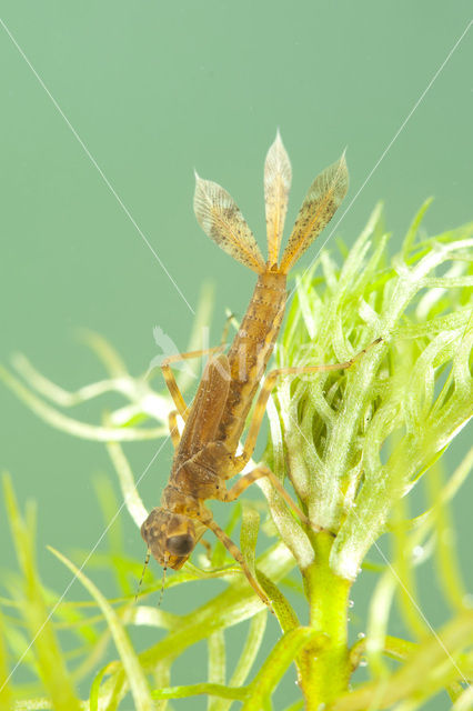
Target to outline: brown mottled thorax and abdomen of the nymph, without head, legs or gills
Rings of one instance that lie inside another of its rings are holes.
[[[274,348],[286,300],[285,276],[262,274],[230,348],[208,364],[174,454],[161,507],[204,520],[205,499],[225,499],[245,418]]]

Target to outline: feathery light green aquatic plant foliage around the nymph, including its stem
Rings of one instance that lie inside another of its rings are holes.
[[[392,258],[392,240],[378,207],[350,250],[340,243],[342,266],[322,251],[293,283],[276,349],[279,367],[344,361],[375,338],[383,340],[348,371],[281,379],[270,400],[263,460],[281,481],[286,478],[312,525],[298,521],[262,481],[268,505],[236,504],[227,531],[230,534],[241,519],[241,550],[272,601],[275,620],[214,541],[210,552],[199,557],[199,565],[188,563],[165,587],[197,580],[210,587],[221,579],[223,591],[195,608],[189,595],[189,609],[178,615],[165,611],[171,590],[157,608],[161,580],[148,572],[135,602],[131,579],[139,578],[142,561],[130,561],[117,529],[110,549],[93,553],[93,561],[113,573],[118,597],[108,600],[90,570],[52,551],[91,598],[89,604],[57,604],[59,594],[41,581],[36,563],[33,507],[28,504],[24,515],[20,512],[6,477],[21,579],[0,600],[0,678],[7,680],[0,682],[0,711],[118,709],[129,694],[139,711],[169,710],[170,700],[200,694],[211,711],[269,710],[292,664],[301,698],[288,707],[291,711],[412,711],[442,690],[454,711],[472,708],[473,610],[449,511],[473,467],[473,449],[446,473],[441,457],[473,414],[473,224],[427,237],[421,233],[426,208]],[[191,349],[208,321],[209,301],[202,300]],[[47,380],[24,357],[13,359],[17,374],[2,368],[0,377],[51,425],[105,443],[124,504],[140,527],[147,511],[120,442],[163,438],[171,401],[163,389],[152,387],[157,380],[131,375],[101,337],[89,334],[88,342],[108,374],[77,392]],[[191,384],[189,374],[182,373],[180,384]],[[80,422],[63,411],[107,392],[120,393],[127,403],[101,423]],[[421,481],[427,503],[413,517],[412,492]],[[110,482],[102,481],[98,492],[110,520]],[[260,531],[264,537],[256,554]],[[378,562],[368,558],[372,551]],[[417,593],[417,578],[427,562],[435,563],[437,594],[451,611],[440,629],[429,624]],[[365,575],[373,588],[366,614],[352,622],[352,585]],[[391,630],[395,601],[405,629],[402,639]],[[239,661],[228,669],[228,631],[245,621]],[[280,639],[261,659],[266,625],[275,623]],[[135,625],[157,631],[157,641],[140,653],[129,637]],[[362,630],[359,638],[356,630]],[[64,653],[61,635],[68,632],[76,649]],[[22,657],[30,639],[33,644]],[[113,660],[110,639],[117,649]],[[175,662],[202,641],[208,678],[171,685]],[[21,657],[37,680],[27,687],[10,675]],[[77,684],[91,674],[90,695],[80,699]]]

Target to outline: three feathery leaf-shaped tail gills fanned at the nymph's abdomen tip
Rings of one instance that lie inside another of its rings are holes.
[[[218,183],[195,173],[194,211],[203,231],[233,259],[256,273],[286,274],[330,222],[346,194],[349,173],[344,153],[315,178],[301,206],[278,264],[291,188],[291,163],[278,132],[264,163],[268,261],[233,198]]]

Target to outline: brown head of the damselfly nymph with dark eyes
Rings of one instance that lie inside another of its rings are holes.
[[[167,509],[153,509],[141,527],[141,535],[160,565],[179,570],[195,548],[192,519]]]

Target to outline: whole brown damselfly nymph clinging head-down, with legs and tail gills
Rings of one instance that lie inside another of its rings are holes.
[[[269,604],[268,598],[250,572],[241,552],[218,527],[207,499],[233,501],[253,481],[268,477],[293,511],[308,520],[292,501],[274,474],[258,467],[227,489],[227,480],[242,471],[254,450],[265,404],[275,377],[284,373],[316,372],[349,368],[345,363],[273,371],[258,395],[243,452],[236,448],[243,433],[262,375],[281,328],[286,301],[286,273],[332,218],[348,189],[344,157],[323,171],[312,183],[300,209],[294,229],[278,266],[279,247],[288,207],[291,166],[281,139],[271,147],[264,169],[264,198],[268,227],[268,262],[242,213],[230,194],[217,183],[198,178],[194,210],[211,239],[258,277],[253,297],[228,354],[211,357],[190,409],[179,391],[168,359],[163,374],[178,412],[185,421],[182,437],[175,428],[175,413],[170,415],[175,454],[161,507],[153,509],[141,527],[148,550],[164,568],[179,569],[205,529],[211,529],[242,565],[250,584]],[[221,350],[221,349],[213,349]],[[190,358],[201,353],[187,353]]]

